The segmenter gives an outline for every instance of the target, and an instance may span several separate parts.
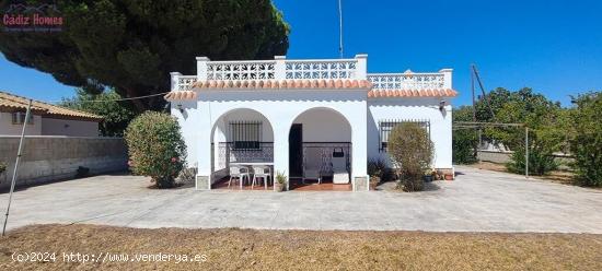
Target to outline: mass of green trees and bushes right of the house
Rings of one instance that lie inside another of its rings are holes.
[[[558,167],[554,154],[570,154],[577,174],[576,181],[586,186],[602,186],[602,95],[591,92],[572,98],[574,106],[564,108],[531,89],[517,92],[498,87],[481,98],[476,105],[476,121],[524,123],[529,134],[529,173],[546,175]],[[491,114],[493,113],[493,114]],[[494,116],[495,115],[495,116]],[[473,107],[462,106],[454,110],[454,121],[473,121]],[[524,173],[524,128],[485,128],[483,141],[499,144],[513,151],[507,168]],[[475,146],[478,137],[475,129],[453,131],[453,161],[456,164],[476,162]]]

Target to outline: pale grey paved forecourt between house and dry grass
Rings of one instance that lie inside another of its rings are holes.
[[[455,181],[403,192],[154,190],[97,176],[14,195],[9,228],[32,223],[131,227],[419,229],[602,234],[602,191],[458,167]],[[0,195],[5,209],[8,195]]]

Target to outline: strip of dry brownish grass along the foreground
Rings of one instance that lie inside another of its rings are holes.
[[[0,240],[0,270],[602,270],[602,235],[590,234],[35,225],[18,228]],[[56,261],[13,262],[13,252],[55,252]],[[175,258],[170,262],[81,263],[65,262],[62,252],[80,252],[80,259],[83,254],[89,257],[128,254],[130,260],[135,259],[135,254],[178,254],[187,255],[188,259],[199,256],[197,262],[181,263],[175,263]]]

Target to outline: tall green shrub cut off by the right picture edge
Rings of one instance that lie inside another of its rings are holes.
[[[602,186],[602,94],[600,92],[580,95],[572,101],[577,108],[570,115],[575,137],[570,151],[575,156],[572,167],[577,184]]]

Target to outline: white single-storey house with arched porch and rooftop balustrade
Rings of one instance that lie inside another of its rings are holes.
[[[452,170],[452,70],[371,74],[367,64],[367,55],[197,57],[196,75],[172,72],[165,99],[181,123],[187,161],[197,167],[197,189],[211,189],[232,164],[262,161],[290,177],[338,172],[335,184],[367,190],[368,161],[387,158],[389,132],[403,121],[428,129],[432,166]]]

